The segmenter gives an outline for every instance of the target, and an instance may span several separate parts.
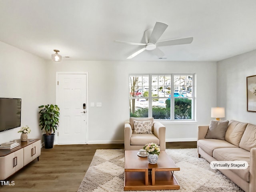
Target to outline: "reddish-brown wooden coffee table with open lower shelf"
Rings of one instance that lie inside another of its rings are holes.
[[[179,171],[170,156],[161,151],[156,164],[148,163],[147,157],[139,157],[138,150],[125,151],[124,190],[180,189],[174,176]]]

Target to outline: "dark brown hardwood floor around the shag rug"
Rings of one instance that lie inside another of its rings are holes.
[[[166,148],[196,148],[196,142],[166,142]],[[39,161],[35,159],[8,178],[10,185],[0,186],[0,192],[77,192],[96,149],[124,149],[124,144],[42,148]]]

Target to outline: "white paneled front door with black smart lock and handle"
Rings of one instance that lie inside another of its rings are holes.
[[[58,73],[57,105],[60,108],[58,144],[85,144],[87,121],[86,74]]]

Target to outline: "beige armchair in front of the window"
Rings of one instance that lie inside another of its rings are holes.
[[[133,121],[148,121],[151,120],[153,134],[134,134]],[[160,122],[154,122],[153,117],[134,118],[124,122],[124,150],[139,150],[145,144],[154,142],[160,146],[160,150],[165,150],[165,126]]]

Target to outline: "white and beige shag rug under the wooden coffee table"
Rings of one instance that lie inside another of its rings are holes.
[[[196,148],[167,149],[166,153],[180,167],[174,172],[180,189],[142,192],[243,192],[220,171],[212,170],[204,158],[198,158]],[[124,192],[124,150],[96,150],[78,192]]]

